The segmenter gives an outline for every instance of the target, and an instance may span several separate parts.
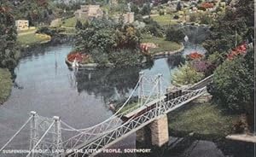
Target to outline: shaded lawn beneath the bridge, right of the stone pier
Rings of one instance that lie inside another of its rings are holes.
[[[239,115],[223,113],[212,103],[191,104],[185,109],[169,113],[169,129],[189,131],[203,135],[227,135],[232,131],[233,123]]]

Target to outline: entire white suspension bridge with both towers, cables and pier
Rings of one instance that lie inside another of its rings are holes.
[[[154,136],[156,145],[162,145],[168,140],[167,119],[160,128],[163,116],[167,113],[195,100],[207,91],[206,85],[210,77],[182,90],[166,91],[162,75],[154,77],[140,73],[137,84],[131,95],[108,119],[97,125],[78,129],[60,117],[47,118],[32,111],[26,123],[15,135],[9,138],[0,149],[1,156],[10,156],[8,146],[26,127],[29,127],[30,137],[27,139],[29,148],[22,155],[25,157],[84,157],[99,154],[105,148],[141,130],[144,126],[153,124],[158,129]],[[137,101],[134,102],[134,98]],[[133,101],[132,101],[133,100]],[[159,131],[164,131],[159,133]],[[167,132],[166,132],[167,130]],[[163,137],[160,137],[165,134]],[[14,155],[15,156],[15,155]]]

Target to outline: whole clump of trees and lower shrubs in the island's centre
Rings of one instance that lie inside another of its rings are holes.
[[[90,21],[79,29],[75,50],[89,54],[96,63],[134,66],[142,60],[139,52],[140,32],[132,25],[120,25],[112,20]]]

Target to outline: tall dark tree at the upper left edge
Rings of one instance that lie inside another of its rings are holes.
[[[0,2],[0,67],[14,70],[19,51],[16,46],[15,19],[11,11],[11,3],[9,1]]]

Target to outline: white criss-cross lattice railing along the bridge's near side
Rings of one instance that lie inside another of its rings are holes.
[[[88,155],[91,154],[90,150],[96,150],[94,154],[97,154],[102,150],[102,148],[106,148],[108,145],[116,142],[118,138],[129,136],[132,132],[137,131],[145,125],[148,125],[160,115],[169,113],[173,109],[181,107],[183,104],[201,96],[205,91],[206,87],[199,90],[190,90],[187,92],[187,94],[174,98],[168,102],[159,102],[160,105],[158,108],[152,108],[151,110],[141,115],[135,114],[133,118],[125,122],[125,124],[115,128],[113,131],[108,131],[108,133],[104,134],[102,137],[97,138],[93,142],[88,144],[84,143],[84,146],[81,145],[82,147],[78,149],[82,150],[83,153],[72,153],[69,154],[69,156]]]

